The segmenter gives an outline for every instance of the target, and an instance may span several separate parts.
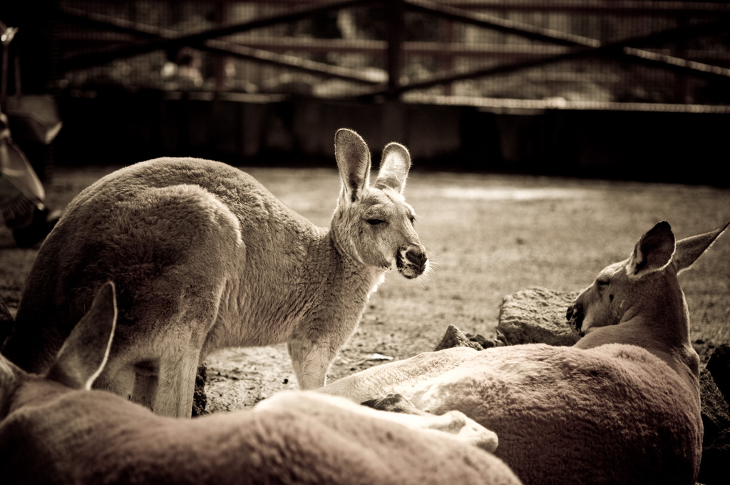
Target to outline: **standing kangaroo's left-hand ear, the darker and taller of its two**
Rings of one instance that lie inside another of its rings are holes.
[[[355,131],[341,128],[334,134],[334,158],[342,191],[347,200],[355,202],[370,183],[370,150]]]

